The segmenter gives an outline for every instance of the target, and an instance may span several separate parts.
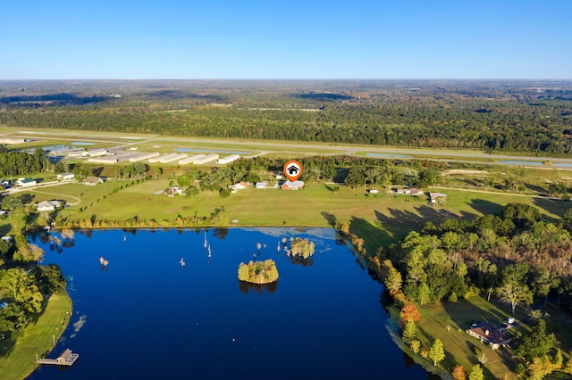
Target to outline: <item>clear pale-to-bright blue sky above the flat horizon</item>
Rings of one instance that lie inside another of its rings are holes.
[[[572,78],[572,0],[6,0],[0,78]]]

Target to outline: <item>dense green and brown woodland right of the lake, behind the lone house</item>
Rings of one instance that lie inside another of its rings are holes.
[[[532,296],[572,306],[572,211],[559,223],[546,223],[534,206],[509,203],[499,216],[428,222],[374,258],[387,274],[390,260],[403,278],[400,290],[420,304],[457,299],[468,292],[502,295],[507,278],[518,278],[519,302]],[[383,264],[385,263],[385,264]],[[515,275],[515,271],[518,275]],[[395,286],[390,286],[395,289]]]

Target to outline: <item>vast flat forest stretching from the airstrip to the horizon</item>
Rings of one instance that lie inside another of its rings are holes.
[[[13,127],[569,155],[569,81],[0,82]]]

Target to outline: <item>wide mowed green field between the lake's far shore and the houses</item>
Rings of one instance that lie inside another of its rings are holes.
[[[50,194],[32,193],[34,201],[63,199],[66,195],[79,197],[81,202],[59,211],[70,220],[117,220],[137,217],[139,220],[155,219],[158,226],[173,226],[174,220],[192,218],[208,219],[215,209],[224,209],[222,226],[330,226],[331,216],[348,220],[352,232],[366,239],[369,252],[383,244],[399,240],[426,222],[438,224],[442,219],[467,218],[486,213],[498,213],[509,202],[526,202],[540,208],[548,221],[555,221],[572,202],[553,201],[517,194],[487,194],[458,190],[440,190],[448,195],[442,206],[431,206],[425,196],[366,194],[363,188],[341,186],[333,192],[332,185],[309,183],[299,191],[250,186],[222,198],[218,192],[201,192],[196,197],[177,195],[168,197],[161,192],[169,185],[167,179],[148,180],[133,186],[130,181],[108,181],[105,185],[83,186],[71,184],[42,189]],[[123,186],[113,194],[116,187]],[[69,202],[76,202],[71,197]],[[80,209],[82,211],[80,211]],[[237,219],[236,224],[232,223]],[[201,222],[200,226],[204,226]],[[206,222],[206,226],[208,223]]]

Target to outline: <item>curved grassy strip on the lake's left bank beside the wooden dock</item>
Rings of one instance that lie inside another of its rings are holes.
[[[19,380],[28,376],[38,367],[36,354],[41,356],[52,350],[52,335],[56,340],[62,335],[70,316],[71,299],[67,293],[52,294],[46,310],[24,329],[15,344],[10,340],[0,341],[0,378]]]

